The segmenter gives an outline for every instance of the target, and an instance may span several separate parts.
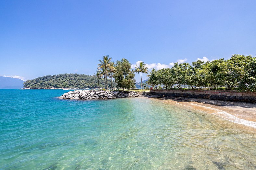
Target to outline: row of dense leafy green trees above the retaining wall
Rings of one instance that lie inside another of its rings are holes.
[[[175,63],[172,68],[151,72],[148,84],[164,85],[166,89],[184,85],[190,88],[219,87],[228,90],[256,91],[256,57],[251,55],[232,55],[228,60],[219,59],[211,62],[200,60],[189,63]]]

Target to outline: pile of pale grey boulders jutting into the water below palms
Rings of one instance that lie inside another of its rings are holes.
[[[113,99],[113,98],[126,98],[138,97],[139,94],[134,91],[104,91],[104,90],[74,90],[64,93],[59,96],[60,99],[75,99],[75,100],[88,100],[88,99]]]

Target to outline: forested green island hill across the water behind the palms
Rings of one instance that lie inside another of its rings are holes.
[[[110,80],[108,80],[110,87]],[[99,79],[99,85],[104,88],[104,79]],[[96,76],[85,74],[46,75],[24,82],[24,88],[98,88]]]

